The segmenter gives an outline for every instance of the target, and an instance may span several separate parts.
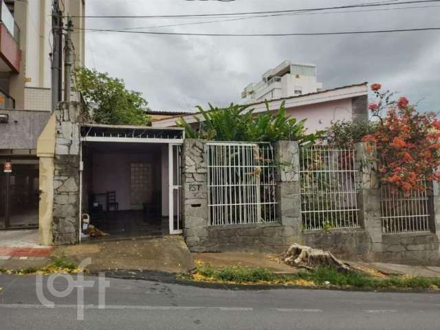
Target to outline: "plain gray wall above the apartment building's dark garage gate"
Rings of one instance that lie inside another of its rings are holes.
[[[36,149],[50,112],[26,110],[0,110],[8,114],[9,122],[0,123],[0,149]]]

